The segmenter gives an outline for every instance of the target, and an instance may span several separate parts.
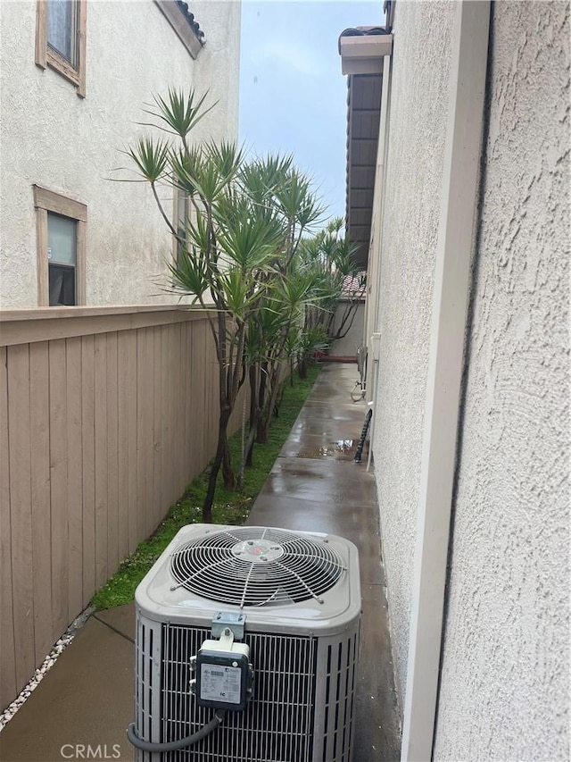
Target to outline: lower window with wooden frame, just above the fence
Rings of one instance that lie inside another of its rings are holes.
[[[85,302],[87,206],[34,186],[37,208],[37,303],[73,306]]]

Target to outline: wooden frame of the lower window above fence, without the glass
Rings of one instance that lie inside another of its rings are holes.
[[[50,306],[49,262],[47,259],[47,214],[60,214],[76,222],[75,306],[86,303],[87,206],[53,190],[33,186],[37,210],[37,306]]]

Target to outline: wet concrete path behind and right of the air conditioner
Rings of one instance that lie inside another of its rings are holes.
[[[400,759],[377,493],[368,451],[353,462],[368,407],[350,397],[354,364],[326,364],[248,518],[328,532],[360,551],[362,618],[353,762]],[[351,442],[345,449],[343,444]]]

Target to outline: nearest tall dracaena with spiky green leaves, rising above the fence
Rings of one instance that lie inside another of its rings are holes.
[[[211,521],[220,468],[225,486],[235,482],[228,423],[248,376],[252,383],[249,370],[255,369],[258,380],[269,379],[269,392],[262,396],[253,384],[256,404],[267,410],[275,399],[290,333],[299,331],[304,299],[310,298],[307,283],[295,290],[294,264],[304,236],[323,214],[310,180],[292,157],[248,161],[232,143],[193,143],[192,130],[211,108],[205,96],[170,89],[146,110],[160,136],[142,138],[127,150],[178,242],[176,261],[169,264],[172,288],[205,310],[216,348],[219,433],[203,504],[205,522]],[[162,205],[165,185],[189,200],[191,214],[182,230]],[[254,351],[256,341],[261,346]]]

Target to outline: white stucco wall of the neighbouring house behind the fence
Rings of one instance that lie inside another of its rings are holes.
[[[37,306],[37,184],[87,204],[87,304],[170,301],[172,251],[150,188],[109,179],[148,128],[142,107],[170,86],[219,101],[196,138],[237,137],[239,0],[192,4],[206,44],[193,61],[152,0],[87,4],[87,96],[34,63],[36,0],[1,4],[0,306]],[[172,201],[166,202],[169,213]],[[158,281],[155,284],[153,281]]]

